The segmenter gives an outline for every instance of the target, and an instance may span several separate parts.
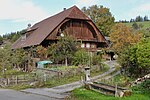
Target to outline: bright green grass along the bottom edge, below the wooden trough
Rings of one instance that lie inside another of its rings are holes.
[[[72,95],[68,97],[68,100],[150,100],[150,95],[133,93],[131,96],[120,98],[103,95],[84,88],[78,88],[72,91]]]

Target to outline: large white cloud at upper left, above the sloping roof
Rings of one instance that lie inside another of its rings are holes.
[[[0,20],[39,21],[47,15],[32,0],[0,0]]]

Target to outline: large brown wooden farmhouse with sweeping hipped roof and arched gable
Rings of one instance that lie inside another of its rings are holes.
[[[62,12],[46,18],[32,27],[28,25],[27,31],[13,45],[13,49],[42,45],[47,47],[65,34],[73,36],[81,42],[81,48],[97,51],[107,46],[106,39],[79,8],[73,6]]]

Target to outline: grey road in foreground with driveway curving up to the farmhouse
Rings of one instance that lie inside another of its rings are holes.
[[[114,66],[117,63],[115,61],[107,61],[105,64],[107,64],[110,69],[101,75],[92,77],[91,80],[96,80],[110,74],[115,70]],[[0,98],[0,100],[63,100],[69,96],[70,91],[81,87],[82,85],[83,83],[81,81],[77,81],[53,88],[25,89],[21,92],[14,90],[1,90],[3,92],[0,91],[0,97],[3,97],[3,99]]]

